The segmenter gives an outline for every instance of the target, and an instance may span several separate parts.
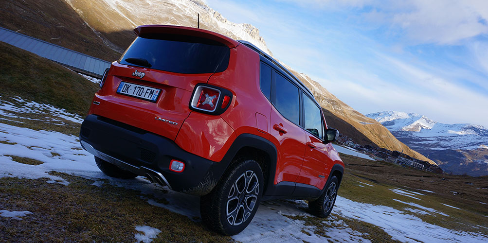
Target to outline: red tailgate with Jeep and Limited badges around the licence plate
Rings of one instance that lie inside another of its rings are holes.
[[[132,74],[145,73],[144,80]],[[117,74],[117,75],[111,75]],[[98,114],[174,140],[188,114],[193,87],[208,80],[211,74],[178,75],[147,71],[114,62],[103,89],[95,94],[91,113]],[[156,102],[117,93],[121,82],[155,88]]]

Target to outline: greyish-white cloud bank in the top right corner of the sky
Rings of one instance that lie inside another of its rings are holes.
[[[361,16],[356,19],[359,24],[366,20],[370,21],[367,25],[385,26],[390,34],[405,36],[413,43],[457,44],[466,38],[488,34],[487,0],[284,1],[312,11],[349,11],[352,8],[356,12],[348,13]]]

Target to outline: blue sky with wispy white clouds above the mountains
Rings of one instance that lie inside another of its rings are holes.
[[[363,114],[488,127],[488,0],[205,0]]]

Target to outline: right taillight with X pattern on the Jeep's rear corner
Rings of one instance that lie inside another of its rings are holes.
[[[207,114],[222,114],[232,101],[232,93],[221,87],[197,84],[193,90],[190,109]]]

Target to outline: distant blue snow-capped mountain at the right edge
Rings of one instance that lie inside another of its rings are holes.
[[[366,116],[447,172],[488,175],[488,129],[481,125],[445,124],[417,113],[395,111]]]

